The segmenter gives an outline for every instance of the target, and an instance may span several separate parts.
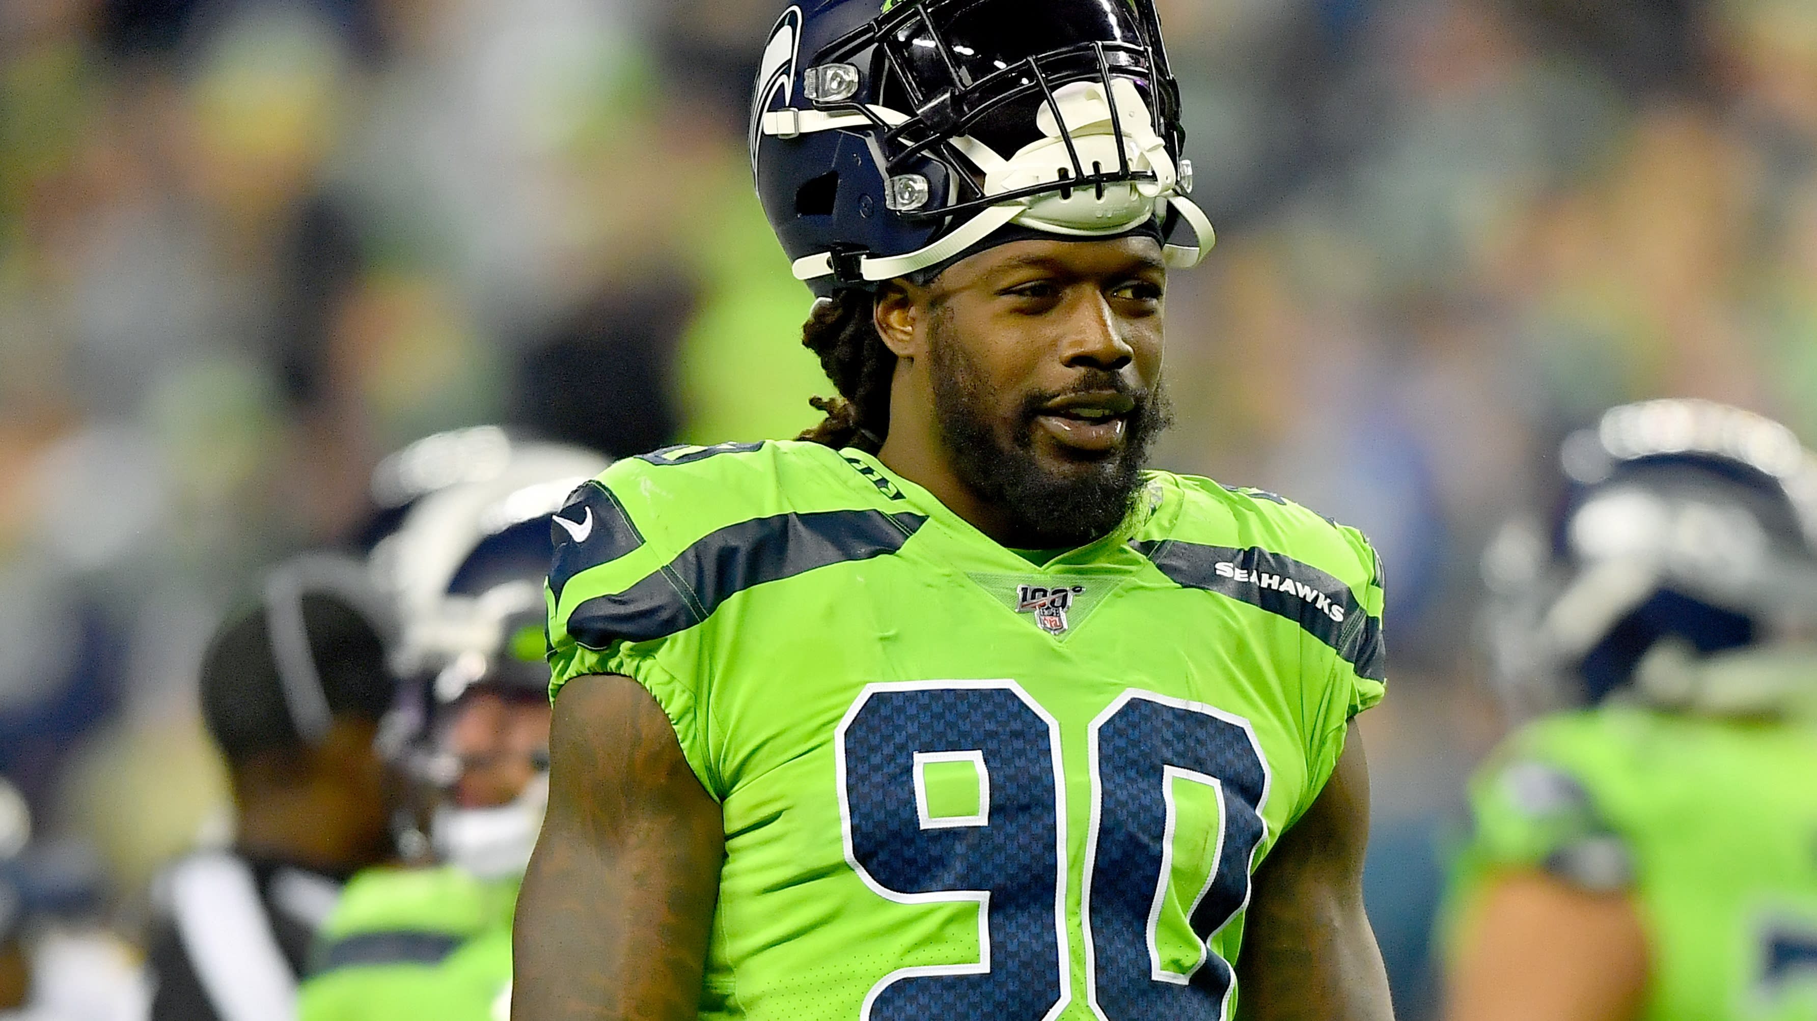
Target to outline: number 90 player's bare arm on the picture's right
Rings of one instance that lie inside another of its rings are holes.
[[[1368,765],[1352,723],[1332,779],[1256,872],[1237,965],[1243,1021],[1394,1017],[1388,974],[1363,914],[1366,845]]]

